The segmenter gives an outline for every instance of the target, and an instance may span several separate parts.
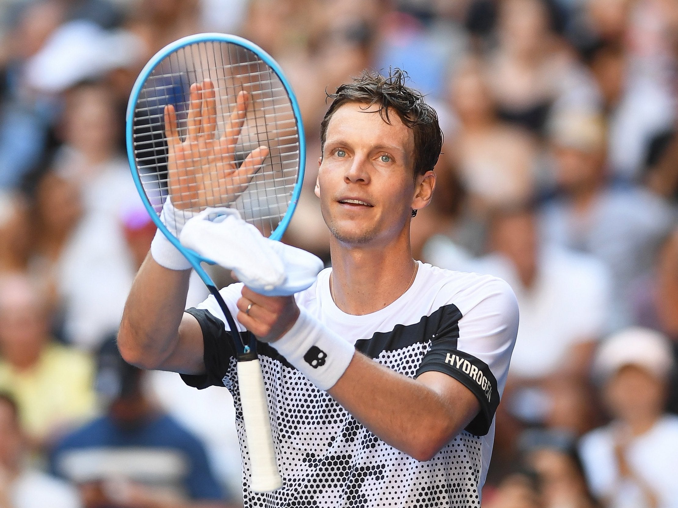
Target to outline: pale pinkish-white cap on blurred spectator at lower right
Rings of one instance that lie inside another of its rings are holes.
[[[627,365],[643,368],[659,378],[668,376],[673,367],[669,340],[658,331],[639,326],[624,329],[599,347],[593,371],[605,381]]]

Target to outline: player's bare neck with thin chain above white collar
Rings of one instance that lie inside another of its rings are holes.
[[[414,282],[410,232],[389,245],[346,247],[330,242],[334,302],[346,314],[362,316],[396,301]]]

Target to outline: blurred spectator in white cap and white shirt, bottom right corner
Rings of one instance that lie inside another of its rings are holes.
[[[678,503],[678,417],[666,415],[671,348],[657,332],[631,328],[601,346],[595,374],[612,422],[582,438],[593,493],[610,508]]]

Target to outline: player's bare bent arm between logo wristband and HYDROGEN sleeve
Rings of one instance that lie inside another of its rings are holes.
[[[473,417],[471,391],[441,373],[405,377],[356,353],[329,393],[378,438],[414,459],[431,459]]]

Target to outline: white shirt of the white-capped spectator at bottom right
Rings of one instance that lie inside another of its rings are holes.
[[[641,490],[619,478],[614,455],[614,423],[589,432],[580,442],[586,478],[593,494],[610,508],[645,508]],[[633,473],[658,496],[658,508],[678,507],[678,417],[665,415],[626,450]]]

